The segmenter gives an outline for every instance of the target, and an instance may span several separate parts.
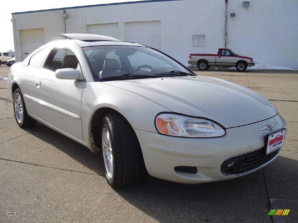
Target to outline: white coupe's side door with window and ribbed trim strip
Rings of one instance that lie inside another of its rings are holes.
[[[34,96],[38,100],[36,117],[83,140],[81,100],[86,82],[61,80],[55,76],[57,69],[78,66],[77,62],[74,67],[74,63],[69,58],[77,57],[69,49],[54,48],[46,59],[36,80]]]

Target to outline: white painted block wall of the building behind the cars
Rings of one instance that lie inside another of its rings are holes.
[[[298,68],[298,1],[242,0],[227,5],[227,48],[252,56],[265,64]],[[69,8],[67,33],[85,33],[89,24],[119,23],[119,39],[125,40],[125,23],[161,21],[161,50],[187,64],[190,53],[216,53],[224,47],[224,0],[156,1],[97,7]],[[44,28],[45,42],[63,39],[62,9],[13,14],[17,60],[21,58],[20,30]],[[231,17],[230,13],[236,16]],[[192,37],[205,35],[204,47],[193,47]]]

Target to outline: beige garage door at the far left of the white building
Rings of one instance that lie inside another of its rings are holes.
[[[38,47],[44,45],[44,29],[21,30],[22,61]]]

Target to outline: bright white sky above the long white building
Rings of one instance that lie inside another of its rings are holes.
[[[44,9],[55,9],[64,7],[74,7],[83,5],[96,5],[96,4],[108,4],[115,2],[127,2],[127,1],[141,1],[141,0],[14,0],[7,1],[1,0],[0,15],[0,52],[7,52],[12,49],[14,51],[13,43],[13,23],[11,22],[11,13],[13,12],[27,12]]]

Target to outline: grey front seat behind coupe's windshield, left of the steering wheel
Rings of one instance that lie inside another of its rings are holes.
[[[99,77],[106,78],[112,76],[121,76],[125,74],[123,70],[121,70],[121,65],[116,59],[105,59],[103,62],[103,70],[100,71]]]

